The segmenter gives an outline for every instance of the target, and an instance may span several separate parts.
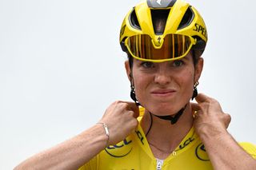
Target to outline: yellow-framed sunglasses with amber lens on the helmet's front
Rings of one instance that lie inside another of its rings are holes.
[[[162,42],[161,42],[162,41]],[[173,61],[185,57],[196,39],[182,34],[166,34],[158,38],[156,46],[148,34],[138,34],[126,38],[125,45],[130,55],[142,61]]]

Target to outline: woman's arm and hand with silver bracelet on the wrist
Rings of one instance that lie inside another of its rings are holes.
[[[14,169],[78,169],[106,148],[106,145],[117,144],[128,136],[138,125],[136,117],[138,107],[134,102],[115,101],[99,121],[108,126],[109,140],[102,125],[96,124],[70,140],[31,156]]]

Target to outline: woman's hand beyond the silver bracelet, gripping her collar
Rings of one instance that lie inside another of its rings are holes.
[[[107,109],[99,122],[108,127],[110,138],[108,145],[124,140],[138,125],[138,106],[134,102],[115,101]]]

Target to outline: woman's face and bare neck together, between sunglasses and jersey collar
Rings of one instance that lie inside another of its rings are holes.
[[[132,70],[126,61],[127,76],[134,84],[138,101],[146,108],[141,123],[144,132],[148,132],[150,127],[149,113],[174,115],[187,104],[182,117],[174,125],[170,125],[170,121],[153,117],[147,140],[154,156],[159,159],[166,159],[193,125],[189,101],[202,67],[203,59],[199,58],[198,64],[194,65],[191,53],[178,61],[160,63],[134,59]]]

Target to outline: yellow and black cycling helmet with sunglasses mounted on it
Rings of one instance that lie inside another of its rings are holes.
[[[207,30],[201,15],[182,0],[146,0],[126,14],[122,50],[142,61],[172,61],[190,49],[204,51]]]

